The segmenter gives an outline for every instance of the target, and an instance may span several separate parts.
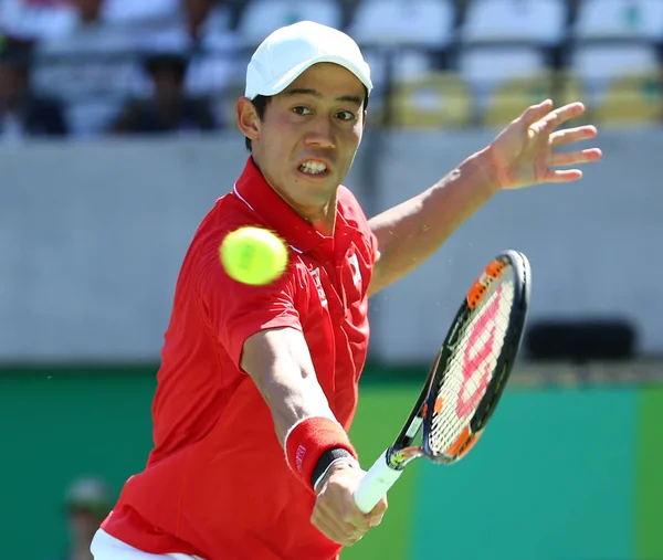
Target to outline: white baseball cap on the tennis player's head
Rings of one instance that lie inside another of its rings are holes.
[[[349,70],[370,94],[370,68],[357,43],[337,29],[301,21],[277,29],[255,50],[246,68],[244,95],[250,99],[276,95],[319,62]]]

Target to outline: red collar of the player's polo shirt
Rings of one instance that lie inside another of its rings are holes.
[[[325,240],[329,241],[329,237],[315,230],[270,187],[253,161],[253,157],[250,157],[246,161],[244,171],[238,179],[233,192],[251,210],[264,219],[272,230],[283,236],[295,252],[306,253],[322,245]],[[337,212],[335,233],[339,231],[339,222],[347,225],[340,212]]]

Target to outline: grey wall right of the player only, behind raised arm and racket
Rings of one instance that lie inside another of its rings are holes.
[[[393,136],[380,167],[381,207],[415,194],[490,139]],[[663,136],[603,134],[598,142],[603,160],[581,181],[499,193],[434,258],[385,290],[373,306],[380,356],[434,352],[469,283],[503,249],[530,260],[530,320],[620,316],[639,327],[642,351],[663,351]]]

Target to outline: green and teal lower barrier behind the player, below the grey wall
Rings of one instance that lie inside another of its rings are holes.
[[[74,477],[98,474],[118,492],[143,467],[154,373],[0,372],[2,559],[61,551],[63,494]],[[351,436],[365,467],[401,427],[424,373],[362,383]],[[408,467],[382,525],[341,558],[662,559],[661,410],[660,387],[511,390],[465,459]]]

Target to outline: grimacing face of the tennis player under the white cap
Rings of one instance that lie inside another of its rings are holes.
[[[337,64],[315,64],[274,96],[253,156],[267,182],[304,215],[334,200],[359,147],[365,87]]]

